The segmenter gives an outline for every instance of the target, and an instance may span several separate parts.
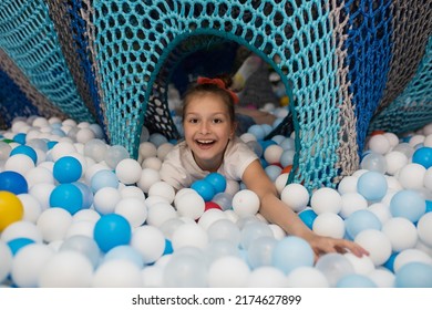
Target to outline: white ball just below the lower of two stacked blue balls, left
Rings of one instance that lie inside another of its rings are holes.
[[[52,242],[63,240],[72,224],[72,215],[63,208],[49,208],[38,218],[37,226],[43,240]]]

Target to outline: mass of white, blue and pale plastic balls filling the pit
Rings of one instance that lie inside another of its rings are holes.
[[[133,159],[95,124],[37,120],[0,132],[2,286],[432,287],[431,138],[422,128],[403,140],[376,133],[359,170],[313,193],[287,185],[294,138],[264,142],[269,128],[259,125],[241,136],[310,229],[370,252],[315,260],[304,239],[259,215],[243,184],[217,173],[177,192],[162,182],[173,147],[164,136],[144,134]]]

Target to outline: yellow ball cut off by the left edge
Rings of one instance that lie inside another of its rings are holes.
[[[0,190],[0,231],[9,225],[21,220],[24,207],[21,200],[12,193]]]

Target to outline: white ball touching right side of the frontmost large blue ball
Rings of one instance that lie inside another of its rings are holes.
[[[140,251],[144,264],[152,264],[164,254],[165,237],[158,228],[144,225],[132,232],[131,246]]]

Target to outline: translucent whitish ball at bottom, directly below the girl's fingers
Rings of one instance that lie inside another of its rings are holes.
[[[354,273],[354,268],[348,258],[337,252],[320,256],[315,267],[325,275],[330,287],[336,287],[344,276]]]

